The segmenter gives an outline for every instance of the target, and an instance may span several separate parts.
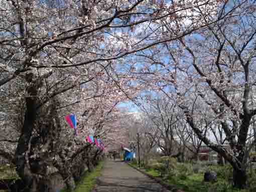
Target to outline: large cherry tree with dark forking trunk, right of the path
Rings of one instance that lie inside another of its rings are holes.
[[[234,3],[234,6],[237,4]],[[255,115],[254,99],[251,97],[255,82],[252,51],[255,30],[251,19],[254,12],[251,11],[250,4],[240,5],[233,17],[202,32],[204,42],[194,44],[192,39],[179,40],[187,52],[187,58],[191,59],[188,64],[193,66],[193,74],[187,72],[187,75],[195,94],[190,104],[183,100],[180,106],[197,136],[233,166],[233,182],[239,188],[244,188],[246,183],[248,155],[253,143],[248,143],[251,138],[249,130]],[[181,89],[180,93],[185,96]],[[203,106],[207,111],[196,107],[199,101],[204,101]],[[231,151],[219,142],[213,143],[203,134],[197,123],[203,117],[202,113],[208,113],[206,127],[216,129],[221,126],[224,140],[229,143]]]

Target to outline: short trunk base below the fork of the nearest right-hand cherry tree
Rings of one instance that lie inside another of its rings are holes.
[[[247,181],[247,175],[245,169],[233,168],[233,185],[236,188],[245,188]]]

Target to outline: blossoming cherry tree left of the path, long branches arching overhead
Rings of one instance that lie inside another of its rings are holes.
[[[72,189],[72,162],[87,157],[88,164],[102,153],[81,144],[84,137],[114,139],[118,102],[134,100],[149,87],[177,88],[177,58],[183,53],[173,54],[173,47],[193,32],[231,20],[239,7],[224,12],[225,3],[208,0],[1,3],[1,112],[8,109],[1,124],[20,136],[15,152],[0,154],[15,154],[17,172],[31,191],[47,177],[49,164]],[[166,55],[173,61],[158,60]],[[73,111],[81,120],[77,140],[63,130],[63,117]]]

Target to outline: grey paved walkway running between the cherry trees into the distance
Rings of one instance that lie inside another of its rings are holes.
[[[162,185],[121,161],[108,160],[94,192],[169,192]]]

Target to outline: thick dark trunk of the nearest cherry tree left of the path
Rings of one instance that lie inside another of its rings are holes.
[[[21,135],[18,141],[18,145],[15,152],[16,170],[21,179],[24,181],[27,189],[25,191],[37,191],[39,185],[39,177],[37,172],[44,172],[44,167],[39,167],[41,162],[32,161],[30,159],[30,142],[32,132],[35,129],[37,122],[37,104],[38,102],[38,89],[41,86],[41,82],[44,78],[49,77],[52,72],[43,75],[41,78],[33,80],[33,73],[26,75],[26,80],[29,83],[26,92],[26,112],[24,117],[23,127],[21,129]],[[33,146],[31,146],[33,148]],[[36,171],[36,172],[34,172]]]

